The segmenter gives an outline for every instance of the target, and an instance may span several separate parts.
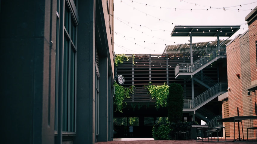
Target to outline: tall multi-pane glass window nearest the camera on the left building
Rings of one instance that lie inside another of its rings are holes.
[[[55,96],[55,130],[57,130],[58,124],[58,98],[61,98],[62,96],[62,130],[67,132],[76,132],[76,40],[78,22],[77,19],[73,17],[74,13],[71,11],[71,7],[73,6],[71,5],[70,1],[71,0],[57,0],[56,81],[58,85],[56,85],[57,88]],[[61,4],[64,4],[62,5],[64,6],[64,13],[62,12],[63,9],[61,8]],[[64,16],[64,22],[59,20],[61,16]],[[60,29],[62,26],[63,29]],[[64,36],[61,35],[62,32],[64,32]],[[62,43],[63,47],[60,47],[62,46]],[[61,67],[63,71],[61,68],[59,69],[59,67]],[[61,81],[61,79],[63,80]],[[62,92],[58,91],[61,89]],[[60,95],[61,93],[63,95]]]

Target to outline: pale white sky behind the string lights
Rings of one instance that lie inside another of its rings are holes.
[[[254,9],[257,5],[256,3],[242,5],[242,7],[231,7],[227,8],[226,11],[223,9],[209,9],[209,7],[230,7],[240,4],[247,4],[255,2],[257,0],[184,0],[186,2],[194,3],[188,4],[180,0],[114,0],[114,52],[115,54],[148,54],[155,53],[161,54],[165,49],[166,45],[173,45],[174,42],[184,44],[189,43],[189,37],[171,37],[171,32],[175,24],[181,26],[237,26],[240,24],[241,28],[238,30],[230,39],[233,39],[235,35],[242,34],[248,29],[248,25],[245,25],[245,16],[251,12],[251,10],[244,9]],[[143,3],[143,4],[138,4]],[[208,6],[207,7],[195,6],[196,4]],[[147,6],[145,6],[147,4]],[[129,6],[130,5],[130,6]],[[151,7],[149,5],[154,5],[157,7]],[[135,10],[133,10],[135,7]],[[162,7],[160,9],[160,7]],[[174,9],[165,9],[177,8]],[[178,10],[178,9],[188,9],[188,10]],[[192,9],[192,12],[190,11]],[[204,10],[196,10],[204,9]],[[232,10],[230,10],[232,9]],[[240,10],[238,12],[237,10]],[[144,12],[140,12],[140,11]],[[148,16],[146,16],[146,14]],[[153,18],[152,16],[157,17]],[[117,17],[119,19],[117,19]],[[161,19],[161,21],[159,21]],[[174,23],[165,22],[165,21]],[[122,22],[120,22],[122,21]],[[124,22],[124,23],[123,23]],[[128,23],[129,22],[129,23]],[[134,25],[133,23],[137,24]],[[128,25],[128,26],[127,26]],[[146,26],[152,30],[161,29],[159,31],[152,31],[146,27],[140,27],[138,25]],[[131,29],[132,27],[132,29]],[[136,29],[136,30],[135,30]],[[138,31],[137,31],[138,30]],[[165,32],[163,32],[165,30]],[[140,32],[139,32],[140,31]],[[143,34],[142,34],[143,32]],[[145,35],[146,34],[146,35]],[[150,35],[150,36],[147,36]],[[124,38],[125,36],[125,38]],[[154,36],[154,38],[152,38]],[[157,38],[155,38],[157,37]],[[125,40],[127,38],[127,40]],[[135,40],[134,40],[135,38]],[[161,39],[158,39],[161,38]],[[220,37],[221,40],[227,39],[228,37]],[[165,41],[163,41],[163,39]],[[215,41],[217,37],[193,37],[192,42],[205,42],[205,41]],[[145,43],[144,43],[145,41]],[[169,42],[173,41],[173,42]],[[135,45],[136,43],[136,45]],[[155,43],[155,44],[154,44]],[[158,43],[158,44],[156,44]],[[123,48],[118,47],[124,46]],[[140,46],[139,46],[140,45]],[[146,49],[144,49],[146,47]],[[127,50],[127,51],[126,51]],[[154,52],[155,50],[155,52]]]

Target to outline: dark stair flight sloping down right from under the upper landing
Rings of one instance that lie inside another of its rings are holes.
[[[206,88],[211,88],[215,84],[217,84],[216,81],[211,79],[210,77],[206,76],[205,74],[202,73],[196,73],[194,75],[194,80],[198,82],[199,84],[205,86]]]

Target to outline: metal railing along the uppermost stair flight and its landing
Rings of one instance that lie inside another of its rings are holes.
[[[194,61],[193,64],[186,64],[186,63],[180,63],[177,64],[175,67],[175,76],[177,76],[178,73],[192,73],[202,67],[203,65],[209,63],[213,59],[217,59],[220,55],[225,55],[226,49],[219,50],[218,48],[213,49],[202,56],[202,58],[199,58],[198,60]]]

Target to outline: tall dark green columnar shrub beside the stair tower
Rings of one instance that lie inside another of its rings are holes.
[[[169,122],[181,121],[183,117],[183,88],[180,84],[171,83],[167,98]]]

